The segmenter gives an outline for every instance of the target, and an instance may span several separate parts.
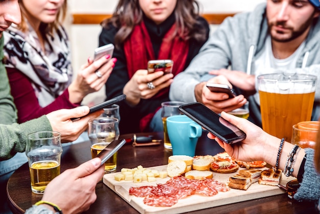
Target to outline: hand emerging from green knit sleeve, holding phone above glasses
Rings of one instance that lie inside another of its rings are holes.
[[[54,111],[47,114],[47,117],[51,123],[52,130],[60,132],[61,141],[71,142],[78,139],[79,135],[86,130],[88,120],[98,117],[103,113],[103,110],[87,115],[88,113],[88,106],[80,106],[74,109],[60,109]],[[80,119],[72,121],[71,118]]]

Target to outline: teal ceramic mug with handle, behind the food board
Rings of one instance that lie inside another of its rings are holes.
[[[173,155],[193,157],[202,128],[186,115],[174,115],[167,118],[168,136]]]

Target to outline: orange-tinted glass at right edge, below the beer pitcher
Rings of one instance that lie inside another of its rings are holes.
[[[303,121],[293,125],[291,143],[314,149],[319,126],[319,121]]]

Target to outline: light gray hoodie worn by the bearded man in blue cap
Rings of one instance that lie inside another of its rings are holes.
[[[266,4],[260,4],[253,12],[238,13],[227,17],[203,45],[189,67],[175,76],[170,87],[170,100],[195,102],[196,84],[207,81],[211,70],[228,68],[255,74],[254,62],[264,49],[268,35]],[[311,66],[312,65],[312,66]],[[312,120],[320,115],[320,22],[312,25],[306,46],[290,73],[308,73],[318,77]],[[250,117],[261,126],[260,106],[254,96],[249,97]]]

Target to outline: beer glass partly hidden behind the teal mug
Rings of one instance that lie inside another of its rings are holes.
[[[162,118],[162,123],[164,125],[164,146],[167,149],[172,149],[169,136],[168,136],[168,131],[167,131],[167,117],[173,116],[173,115],[180,115],[181,112],[178,109],[180,105],[185,104],[184,102],[179,102],[179,101],[167,101],[161,103],[161,118]]]

